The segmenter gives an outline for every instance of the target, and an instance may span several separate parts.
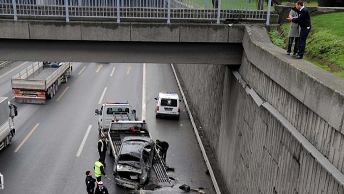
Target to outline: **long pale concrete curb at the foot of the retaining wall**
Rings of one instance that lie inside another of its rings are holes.
[[[219,188],[219,185],[217,184],[217,181],[216,181],[216,178],[215,178],[215,175],[214,175],[214,172],[213,172],[213,168],[211,167],[210,165],[210,162],[209,162],[209,159],[208,159],[208,156],[206,155],[206,152],[204,150],[204,146],[203,146],[203,143],[202,143],[202,140],[200,138],[200,135],[197,131],[197,127],[196,127],[196,124],[195,124],[195,120],[192,116],[192,113],[189,109],[189,105],[188,105],[188,102],[186,101],[186,98],[185,98],[185,95],[184,95],[184,91],[183,91],[183,88],[181,88],[181,85],[180,85],[180,82],[179,82],[179,79],[177,77],[177,74],[175,72],[175,69],[174,69],[174,66],[173,64],[171,63],[171,67],[172,67],[172,70],[173,70],[173,74],[174,74],[174,77],[175,77],[175,80],[177,81],[178,83],[178,87],[179,87],[179,90],[180,90],[180,93],[183,97],[183,101],[184,101],[184,104],[185,104],[185,107],[186,107],[186,110],[188,111],[188,114],[190,116],[190,120],[191,120],[191,123],[192,123],[192,126],[194,128],[194,132],[195,132],[195,135],[196,135],[196,138],[197,138],[197,141],[200,145],[200,148],[201,148],[201,151],[202,151],[202,155],[203,155],[203,158],[204,158],[204,162],[209,170],[209,174],[210,174],[210,177],[211,177],[211,180],[213,181],[213,185],[214,185],[214,188],[215,188],[215,191],[216,191],[216,194],[221,194],[221,191],[220,191],[220,188]]]

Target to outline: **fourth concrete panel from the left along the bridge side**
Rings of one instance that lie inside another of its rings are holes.
[[[179,42],[179,24],[132,23],[131,40],[140,42]]]

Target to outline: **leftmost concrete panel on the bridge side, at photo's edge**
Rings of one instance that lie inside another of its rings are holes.
[[[29,39],[28,21],[3,20],[0,27],[0,38]]]

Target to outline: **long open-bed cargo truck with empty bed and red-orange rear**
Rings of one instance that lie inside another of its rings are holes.
[[[72,76],[71,62],[34,62],[11,79],[14,101],[45,104]]]

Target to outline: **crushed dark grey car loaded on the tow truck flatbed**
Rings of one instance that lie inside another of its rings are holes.
[[[115,183],[130,189],[143,187],[152,168],[154,146],[149,137],[125,137],[114,164]]]

